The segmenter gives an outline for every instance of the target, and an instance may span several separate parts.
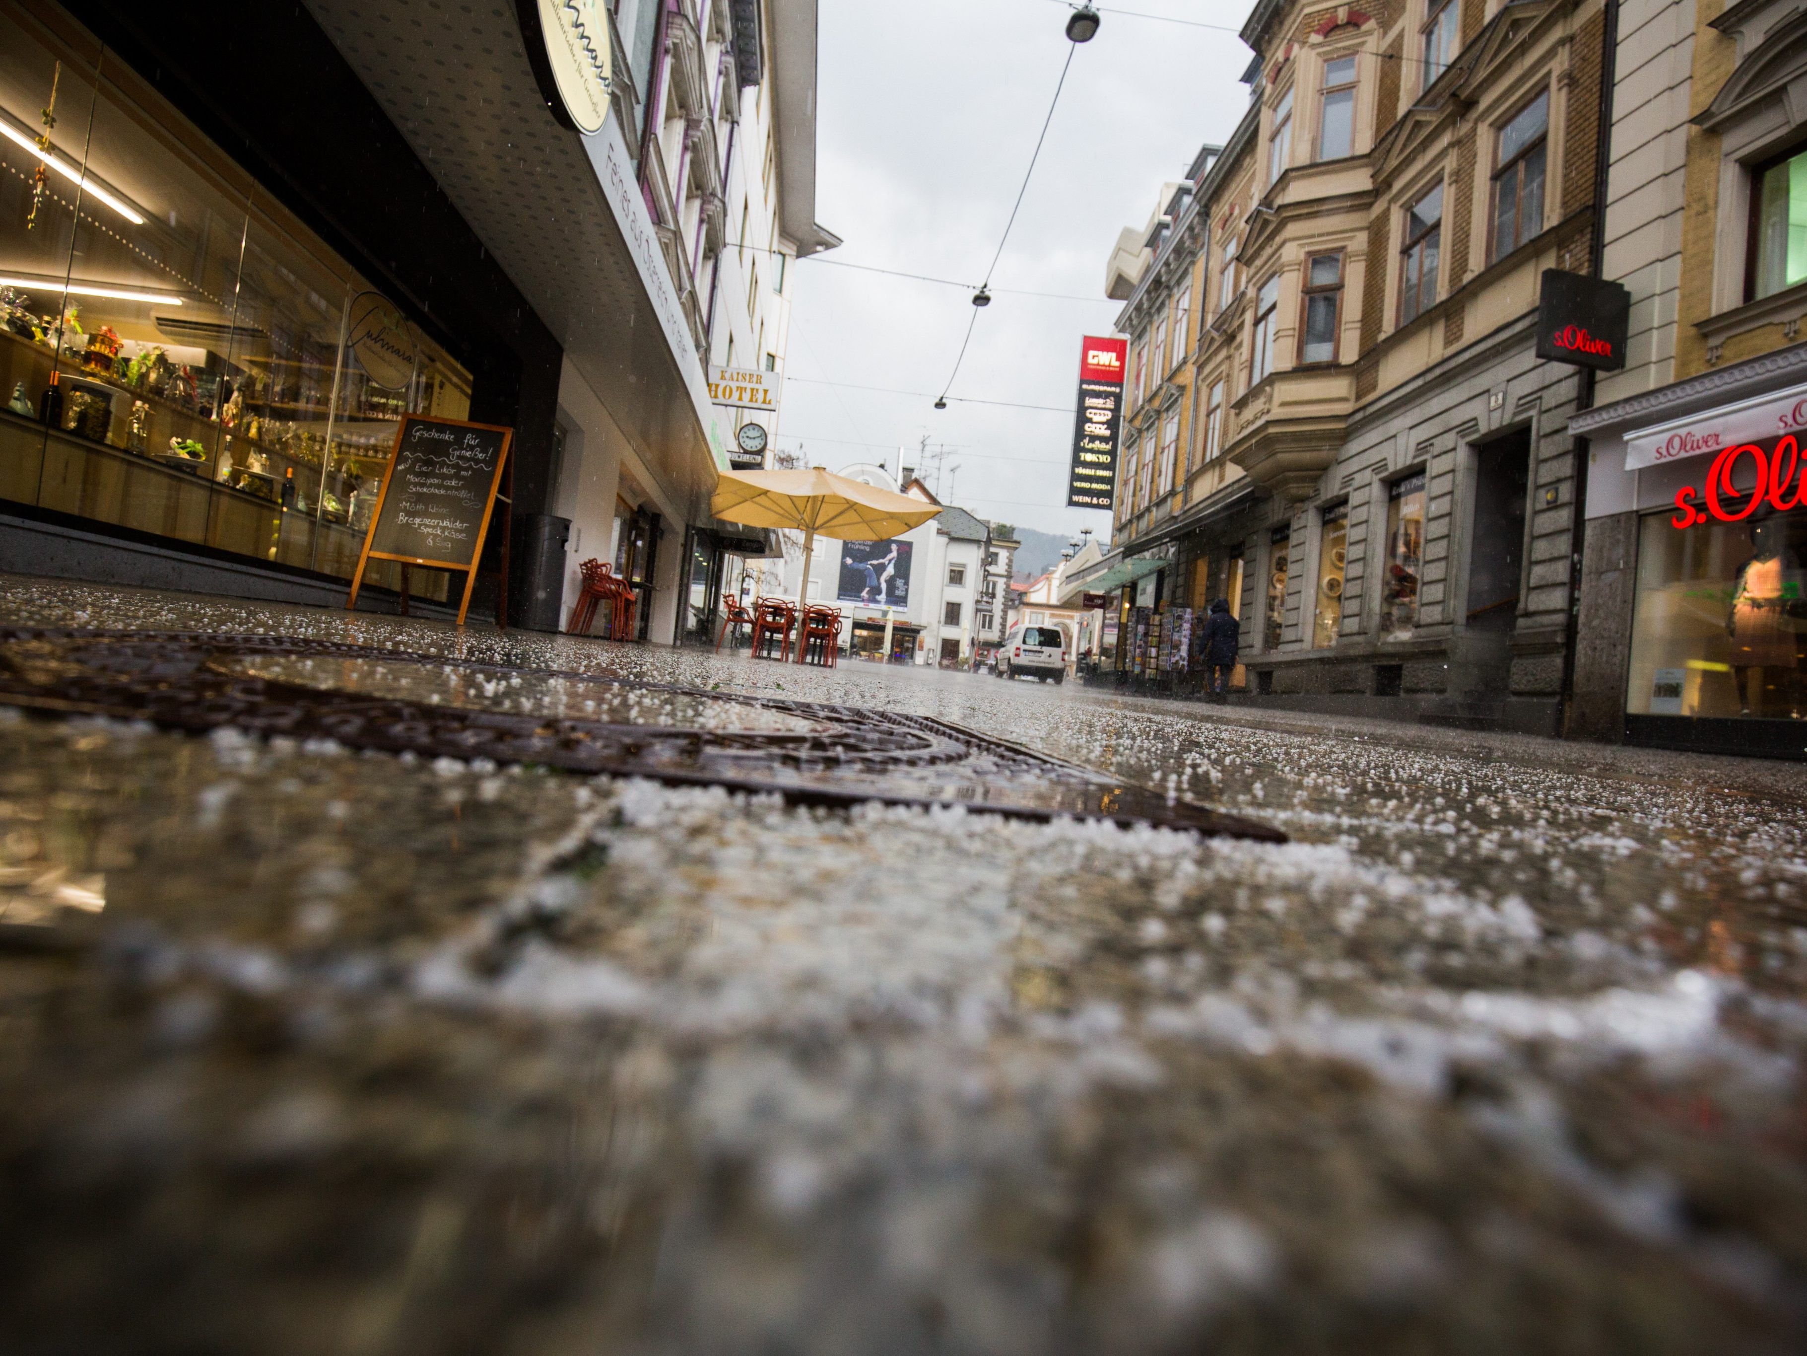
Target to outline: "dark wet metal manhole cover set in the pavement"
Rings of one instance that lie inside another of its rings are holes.
[[[797,805],[961,805],[1287,841],[931,716],[322,640],[0,627],[0,702],[197,734],[229,725],[360,750],[775,792]]]

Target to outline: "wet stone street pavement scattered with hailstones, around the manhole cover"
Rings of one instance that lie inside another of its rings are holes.
[[[0,624],[882,707],[1292,839],[0,707],[5,1351],[1807,1334],[1798,765],[18,577]],[[683,703],[634,718],[755,711]]]

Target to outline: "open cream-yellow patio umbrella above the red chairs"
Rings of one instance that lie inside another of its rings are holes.
[[[802,530],[802,582],[797,602],[810,606],[810,559],[815,533],[838,541],[885,541],[920,526],[941,512],[896,490],[835,476],[820,466],[810,470],[725,470],[716,481],[708,512],[725,523],[748,528]],[[802,664],[802,647],[797,647]]]

